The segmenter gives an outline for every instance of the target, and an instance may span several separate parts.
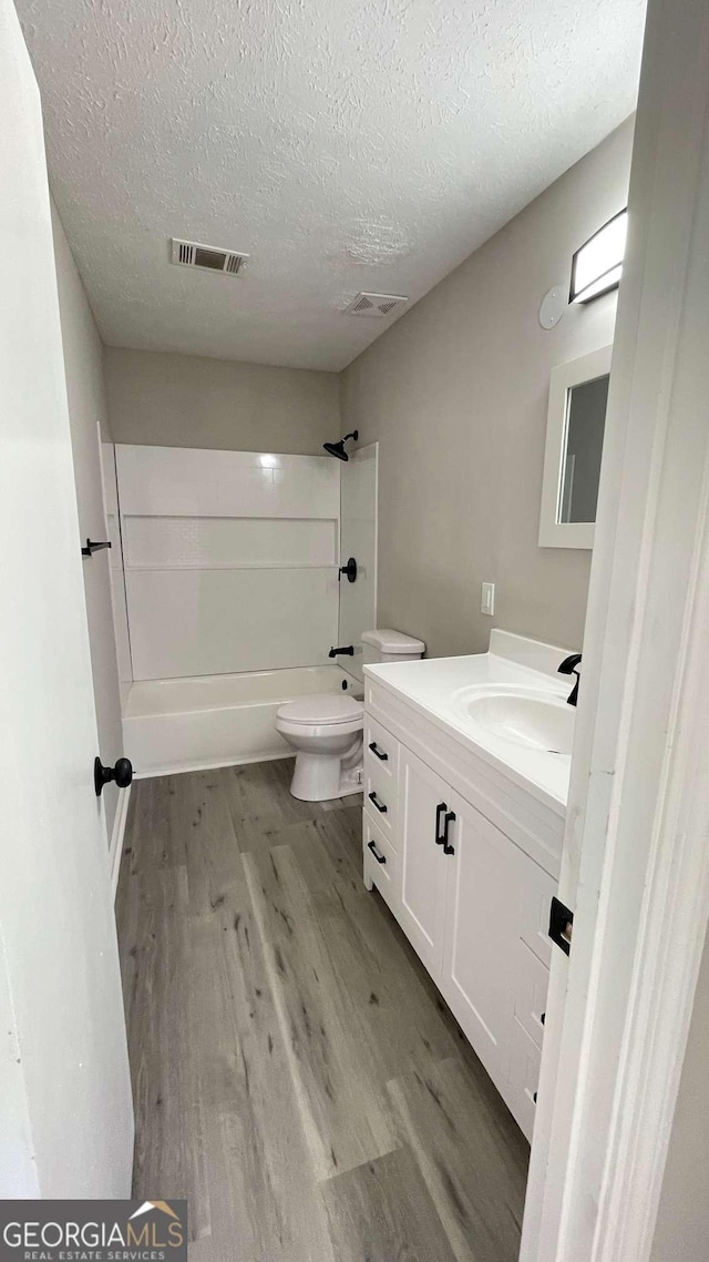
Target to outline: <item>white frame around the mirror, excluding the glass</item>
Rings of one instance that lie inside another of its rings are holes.
[[[556,519],[566,445],[566,399],[574,386],[580,386],[584,381],[595,381],[611,372],[612,351],[612,346],[603,346],[599,351],[592,351],[590,355],[582,355],[578,360],[569,360],[568,363],[559,363],[551,369],[539,517],[540,548],[593,548],[594,521]]]

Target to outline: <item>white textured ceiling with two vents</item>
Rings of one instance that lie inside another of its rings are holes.
[[[643,0],[18,0],[108,345],[342,369],[635,107]],[[246,251],[238,279],[168,237]],[[406,308],[404,308],[406,309]]]

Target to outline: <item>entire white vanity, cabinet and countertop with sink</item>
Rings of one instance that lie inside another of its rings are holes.
[[[570,766],[566,655],[493,631],[487,654],[365,668],[365,882],[527,1138]]]

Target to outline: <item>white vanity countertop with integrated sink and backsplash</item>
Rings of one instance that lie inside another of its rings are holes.
[[[568,651],[493,630],[488,652],[365,666],[365,676],[564,815],[575,712],[566,705],[573,679],[559,675],[558,666]],[[482,722],[471,717],[471,702],[473,714],[484,716]],[[537,713],[550,722],[550,747],[535,740]]]

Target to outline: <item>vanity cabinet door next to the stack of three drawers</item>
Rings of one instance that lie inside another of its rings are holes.
[[[437,837],[449,798],[445,781],[402,746],[399,766],[399,920],[435,981],[440,978],[443,964],[448,878],[448,861]]]

